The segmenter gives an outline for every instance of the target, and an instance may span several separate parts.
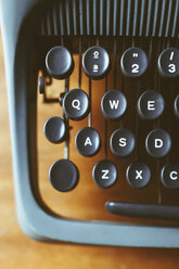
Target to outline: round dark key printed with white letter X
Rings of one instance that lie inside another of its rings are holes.
[[[135,162],[127,168],[126,177],[132,188],[141,189],[150,182],[151,170],[148,165]]]

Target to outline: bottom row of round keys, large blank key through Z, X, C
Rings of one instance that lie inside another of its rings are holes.
[[[141,162],[130,164],[126,169],[126,179],[130,187],[141,189],[151,180],[150,167]],[[68,159],[59,159],[49,170],[50,182],[60,192],[73,190],[79,180],[79,172],[75,164]],[[116,166],[107,159],[100,161],[92,170],[93,181],[102,189],[113,187],[118,179]],[[161,182],[167,189],[179,188],[179,165],[168,164],[161,170]]]

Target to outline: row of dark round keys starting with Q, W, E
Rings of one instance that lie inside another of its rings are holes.
[[[66,117],[73,120],[84,119],[90,111],[90,100],[81,89],[73,89],[64,93],[61,103]],[[143,119],[156,119],[164,112],[165,100],[159,92],[146,90],[140,95],[137,107]],[[127,100],[122,91],[112,89],[105,92],[101,100],[101,111],[105,118],[117,120],[126,110]],[[179,116],[179,95],[175,99],[174,111],[176,116]]]

